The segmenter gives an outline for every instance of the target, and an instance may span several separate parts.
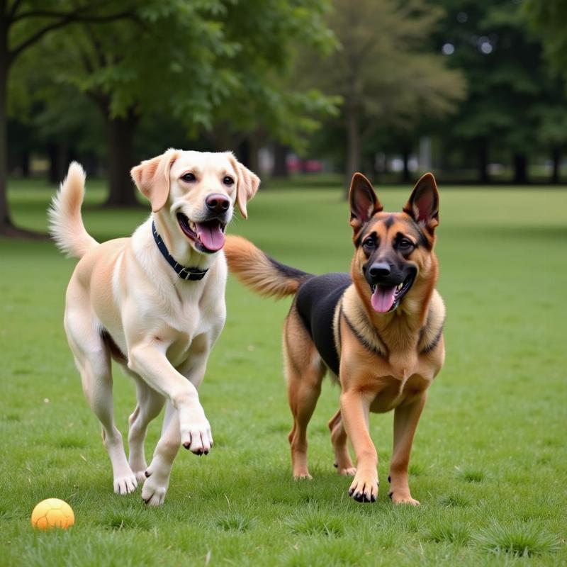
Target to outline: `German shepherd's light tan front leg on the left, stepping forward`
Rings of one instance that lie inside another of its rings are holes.
[[[350,389],[341,394],[344,428],[357,455],[357,473],[349,488],[357,502],[375,502],[378,497],[378,454],[368,427],[370,404],[369,393],[364,391]]]

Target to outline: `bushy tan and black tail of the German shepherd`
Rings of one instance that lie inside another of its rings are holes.
[[[228,267],[242,283],[266,297],[282,298],[298,291],[312,274],[285,266],[240,236],[227,236],[224,246]]]

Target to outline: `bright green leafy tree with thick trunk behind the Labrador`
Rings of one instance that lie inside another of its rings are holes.
[[[293,89],[284,77],[297,43],[330,43],[318,16],[324,7],[314,0],[145,1],[131,21],[85,24],[54,38],[60,79],[95,101],[106,122],[108,204],[136,202],[129,172],[142,117],[170,113],[188,135],[213,133],[220,149],[255,145],[267,133],[299,145],[298,133],[314,128],[313,117],[332,111],[332,101]]]

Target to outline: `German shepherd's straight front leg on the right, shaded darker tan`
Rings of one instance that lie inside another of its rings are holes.
[[[408,484],[408,465],[412,449],[413,436],[420,420],[420,415],[427,400],[427,390],[418,398],[405,405],[398,405],[394,410],[394,447],[390,463],[390,492],[388,495],[394,504],[419,505],[410,494]]]

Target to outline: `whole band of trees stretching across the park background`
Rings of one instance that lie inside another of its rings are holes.
[[[9,173],[70,159],[130,206],[130,167],[168,146],[328,157],[346,177],[422,136],[443,169],[525,183],[567,141],[563,0],[0,0],[0,234]]]

